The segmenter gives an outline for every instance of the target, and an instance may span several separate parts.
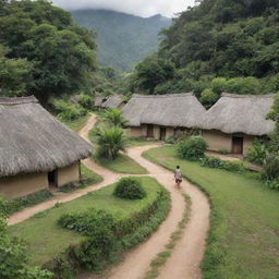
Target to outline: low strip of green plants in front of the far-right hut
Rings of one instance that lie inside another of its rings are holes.
[[[244,163],[242,161],[227,161],[211,156],[204,156],[203,158],[201,158],[201,166],[223,169],[232,172],[245,171]]]

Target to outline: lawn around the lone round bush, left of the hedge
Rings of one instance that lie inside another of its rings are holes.
[[[150,178],[136,178],[147,192],[147,197],[138,201],[124,201],[112,195],[114,185],[110,185],[88,193],[87,195],[57,207],[45,210],[19,225],[10,227],[14,236],[23,238],[28,245],[33,265],[43,265],[52,259],[59,252],[69,245],[77,244],[84,236],[61,229],[57,221],[66,213],[84,211],[88,208],[106,209],[118,219],[124,219],[141,211],[146,205],[153,203],[158,195],[160,185]]]

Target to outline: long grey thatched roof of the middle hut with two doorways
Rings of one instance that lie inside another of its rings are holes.
[[[122,109],[131,126],[157,124],[197,128],[205,108],[192,93],[143,96],[134,95]]]

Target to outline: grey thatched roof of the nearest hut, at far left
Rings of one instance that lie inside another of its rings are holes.
[[[35,97],[0,98],[0,177],[51,171],[90,156],[92,146]]]

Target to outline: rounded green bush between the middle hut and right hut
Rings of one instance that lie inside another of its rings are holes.
[[[201,136],[178,144],[178,156],[182,159],[197,160],[205,156],[207,144]]]

